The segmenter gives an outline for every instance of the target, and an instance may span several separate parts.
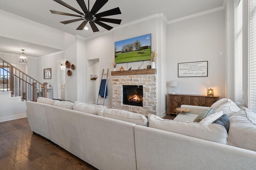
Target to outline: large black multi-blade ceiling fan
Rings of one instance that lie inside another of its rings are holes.
[[[63,24],[68,24],[68,23],[84,20],[77,27],[76,30],[83,30],[88,22],[90,23],[93,32],[99,31],[99,29],[95,25],[95,23],[104,27],[105,29],[110,30],[113,27],[111,27],[110,25],[107,25],[106,23],[103,23],[103,22],[120,24],[121,21],[122,21],[122,20],[119,20],[119,19],[102,18],[102,17],[106,17],[106,16],[122,14],[119,7],[113,8],[111,10],[107,10],[107,11],[104,11],[104,12],[100,12],[100,13],[97,14],[97,12],[108,2],[108,0],[96,0],[96,2],[94,3],[94,5],[93,5],[93,7],[90,11],[89,11],[89,0],[88,0],[88,9],[86,7],[86,4],[85,4],[84,0],[76,0],[76,2],[82,8],[84,13],[82,13],[79,10],[73,8],[72,6],[66,4],[62,0],[54,0],[54,1],[58,2],[59,4],[61,4],[63,6],[65,6],[66,8],[69,8],[70,10],[73,10],[74,12],[77,12],[78,14],[80,14],[80,15],[76,15],[76,14],[69,14],[69,13],[66,13],[66,12],[59,12],[59,11],[50,10],[50,12],[52,14],[79,17],[78,19],[74,19],[74,20],[61,21],[60,23],[63,23]],[[103,21],[103,22],[101,22],[101,21]]]

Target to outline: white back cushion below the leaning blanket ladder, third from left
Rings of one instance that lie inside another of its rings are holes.
[[[88,104],[76,101],[73,105],[73,109],[76,111],[82,111],[84,113],[98,115],[98,111],[107,109],[107,107],[106,106],[90,106]]]

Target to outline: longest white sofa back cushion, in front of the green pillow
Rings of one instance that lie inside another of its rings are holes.
[[[148,114],[148,127],[227,144],[228,133],[223,126],[218,124],[175,121]]]

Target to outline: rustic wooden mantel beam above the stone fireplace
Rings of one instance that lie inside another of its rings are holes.
[[[141,69],[141,70],[124,70],[124,71],[112,71],[111,76],[121,75],[136,75],[136,74],[156,74],[156,69]]]

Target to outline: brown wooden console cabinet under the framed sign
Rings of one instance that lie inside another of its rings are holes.
[[[176,113],[176,108],[182,104],[194,106],[212,106],[219,100],[219,96],[195,95],[195,94],[168,94],[168,113]]]

